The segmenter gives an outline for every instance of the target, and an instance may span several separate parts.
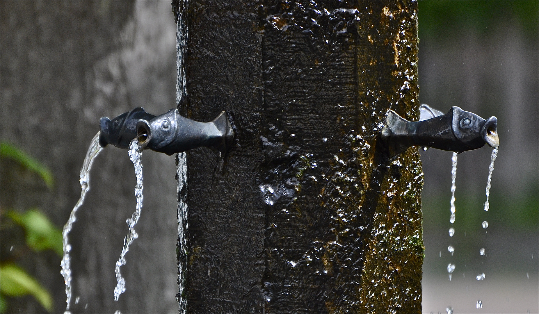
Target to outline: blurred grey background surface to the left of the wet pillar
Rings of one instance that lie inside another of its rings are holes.
[[[153,114],[176,106],[170,2],[2,1],[0,11],[0,138],[49,166],[56,179],[49,191],[3,159],[0,205],[21,212],[38,207],[63,227],[80,196],[79,171],[99,118],[136,106]],[[143,167],[139,239],[122,267],[127,291],[114,302],[114,266],[135,210],[136,182],[127,150],[107,147],[94,162],[71,236],[72,302],[80,297],[73,312],[177,312],[174,156],[144,151]],[[63,312],[60,257],[22,250],[22,234],[2,234],[2,261],[34,275],[52,292],[55,312]],[[32,297],[8,302],[9,312],[44,311]]]

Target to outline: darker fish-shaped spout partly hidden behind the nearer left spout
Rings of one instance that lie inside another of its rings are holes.
[[[137,135],[137,121],[140,119],[151,120],[154,117],[154,115],[150,115],[141,107],[136,107],[112,120],[102,117],[99,120],[99,145],[105,147],[111,144],[118,148],[128,149],[129,143]]]

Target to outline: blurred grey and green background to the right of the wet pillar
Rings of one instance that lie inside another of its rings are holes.
[[[419,1],[419,100],[444,112],[459,106],[484,118],[497,116],[501,143],[488,212],[483,203],[492,149],[458,156],[453,237],[452,153],[421,153],[426,313],[448,307],[455,313],[539,311],[538,4]],[[456,266],[451,282],[450,262]],[[481,273],[485,280],[477,281]],[[479,299],[483,307],[477,309]]]

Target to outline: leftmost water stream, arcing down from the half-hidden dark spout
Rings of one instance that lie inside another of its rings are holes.
[[[90,190],[90,170],[92,169],[92,164],[94,162],[95,157],[99,155],[103,148],[99,145],[99,132],[94,136],[92,139],[92,142],[90,143],[90,146],[88,148],[88,152],[86,152],[86,157],[84,158],[84,163],[82,163],[82,168],[80,169],[80,198],[77,204],[75,204],[75,207],[73,207],[73,210],[71,211],[71,214],[69,216],[69,219],[67,220],[67,223],[64,226],[64,230],[62,232],[62,245],[64,247],[64,256],[62,257],[62,261],[60,263],[60,266],[62,267],[62,270],[60,271],[60,274],[64,276],[64,282],[66,284],[66,311],[65,313],[70,313],[70,303],[71,303],[71,245],[69,243],[68,234],[71,232],[71,228],[73,227],[73,222],[77,221],[77,217],[75,217],[75,214],[77,213],[77,210],[79,209],[82,204],[84,204],[84,199],[86,197],[86,192]]]

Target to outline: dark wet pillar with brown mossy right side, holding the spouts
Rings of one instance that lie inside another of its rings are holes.
[[[186,116],[235,147],[188,153],[188,312],[419,312],[417,2],[190,2]]]

